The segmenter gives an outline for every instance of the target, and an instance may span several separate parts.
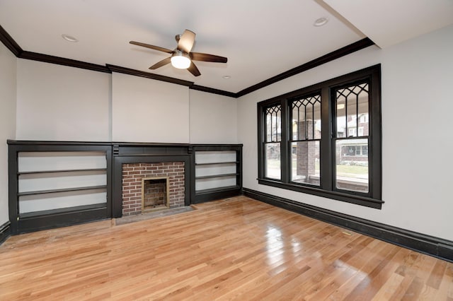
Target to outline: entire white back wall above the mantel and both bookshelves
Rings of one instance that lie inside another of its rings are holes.
[[[18,140],[236,143],[236,103],[149,78],[17,60]]]

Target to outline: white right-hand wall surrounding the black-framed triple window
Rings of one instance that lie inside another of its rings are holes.
[[[368,47],[238,102],[243,187],[453,240],[453,26],[386,49]],[[382,210],[259,185],[256,103],[382,64]]]

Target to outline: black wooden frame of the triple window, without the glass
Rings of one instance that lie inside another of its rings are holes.
[[[335,90],[346,85],[369,83],[369,191],[362,193],[336,189],[336,136]],[[297,98],[321,95],[321,141],[320,141],[320,185],[291,182],[291,102]],[[265,108],[281,106],[281,156],[280,180],[265,178]],[[355,203],[370,208],[382,208],[382,126],[381,126],[381,65],[370,66],[359,71],[338,76],[321,83],[294,90],[283,95],[263,100],[257,104],[258,111],[258,184],[299,191],[328,199]]]

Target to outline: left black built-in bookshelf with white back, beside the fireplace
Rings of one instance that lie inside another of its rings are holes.
[[[90,144],[10,145],[13,233],[108,218],[110,149]]]

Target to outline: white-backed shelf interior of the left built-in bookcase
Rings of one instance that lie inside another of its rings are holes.
[[[99,151],[19,152],[19,213],[39,216],[63,208],[106,206],[105,155]]]

